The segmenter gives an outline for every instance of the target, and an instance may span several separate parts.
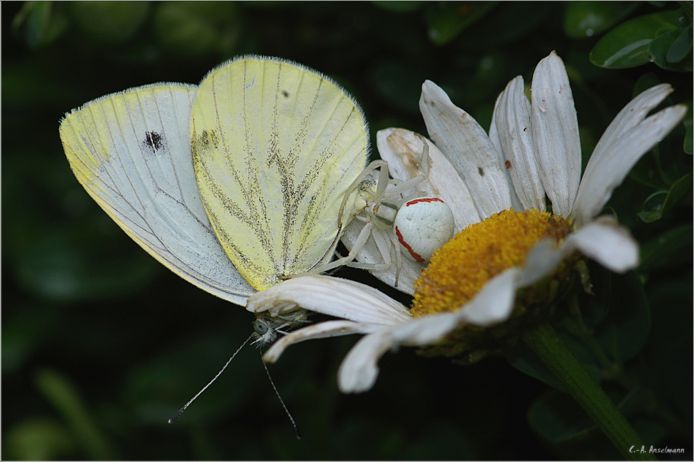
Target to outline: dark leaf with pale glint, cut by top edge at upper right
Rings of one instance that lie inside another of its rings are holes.
[[[636,9],[636,1],[569,1],[564,10],[564,32],[588,38],[611,28]]]

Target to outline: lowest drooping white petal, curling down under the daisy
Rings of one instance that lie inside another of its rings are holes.
[[[372,388],[379,376],[377,363],[392,346],[390,329],[381,329],[359,340],[338,369],[340,391],[361,393]]]

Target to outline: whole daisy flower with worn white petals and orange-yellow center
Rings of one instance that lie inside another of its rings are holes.
[[[584,257],[615,272],[634,269],[636,240],[613,217],[597,215],[638,159],[684,117],[684,105],[649,115],[670,92],[670,85],[656,85],[629,102],[600,138],[581,178],[577,115],[556,53],[536,67],[530,100],[522,77],[506,86],[489,134],[425,81],[420,110],[431,141],[388,129],[378,133],[379,153],[393,176],[406,178],[422,173],[419,153],[427,142],[429,176],[418,188],[447,201],[459,232],[424,270],[404,270],[418,277],[399,284],[414,292],[411,308],[361,283],[325,276],[297,277],[252,295],[247,308],[254,313],[281,316],[301,306],[340,318],[283,336],[265,361],[276,361],[293,343],[361,333],[340,365],[338,384],[344,393],[362,392],[373,386],[377,362],[388,350],[428,347],[433,354],[468,354],[472,360],[547,320]],[[379,258],[376,252],[367,246],[359,259]]]

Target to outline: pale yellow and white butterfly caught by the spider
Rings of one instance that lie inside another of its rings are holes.
[[[241,305],[330,260],[367,133],[356,101],[326,76],[256,56],[217,67],[199,88],[96,99],[60,124],[75,176],[106,213],[176,274]],[[304,317],[263,315],[254,329],[270,343]]]

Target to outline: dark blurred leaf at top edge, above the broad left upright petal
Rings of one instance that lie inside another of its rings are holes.
[[[429,39],[437,45],[447,44],[496,5],[496,1],[431,3],[427,9]]]

